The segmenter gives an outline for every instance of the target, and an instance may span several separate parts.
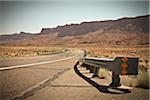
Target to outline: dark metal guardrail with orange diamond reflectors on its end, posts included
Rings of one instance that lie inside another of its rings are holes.
[[[110,86],[120,86],[119,75],[138,75],[139,58],[117,57],[115,59],[84,57],[81,59],[82,66],[94,73],[92,77],[98,76],[100,68],[112,71],[112,83]]]

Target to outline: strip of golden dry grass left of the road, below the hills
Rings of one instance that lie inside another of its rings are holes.
[[[0,46],[0,57],[20,57],[49,55],[63,52],[64,49],[58,47],[38,47],[38,46]]]

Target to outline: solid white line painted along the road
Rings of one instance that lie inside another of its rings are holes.
[[[28,66],[34,66],[34,65],[50,64],[50,63],[55,63],[55,62],[68,60],[68,59],[71,59],[73,57],[67,57],[67,58],[63,58],[63,59],[58,59],[58,60],[53,60],[53,61],[44,61],[44,62],[38,62],[38,63],[32,63],[32,64],[24,64],[24,65],[10,66],[10,67],[2,67],[2,68],[0,68],[0,71],[2,71],[2,70],[10,70],[10,69],[15,69],[15,68],[28,67]]]

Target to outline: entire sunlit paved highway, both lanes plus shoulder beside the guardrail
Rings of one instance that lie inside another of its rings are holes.
[[[111,77],[93,75],[77,61],[84,51],[0,58],[0,100],[148,100],[149,89],[112,89]]]

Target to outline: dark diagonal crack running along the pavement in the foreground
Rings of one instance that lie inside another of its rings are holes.
[[[22,93],[20,93],[19,95],[16,95],[14,97],[12,97],[11,100],[22,100],[25,99],[29,96],[32,96],[36,91],[46,87],[48,84],[50,84],[52,81],[54,81],[55,79],[57,79],[60,75],[62,75],[64,72],[70,70],[71,68],[66,68],[58,73],[56,73],[55,75],[53,75],[52,77],[49,77],[47,79],[45,79],[44,81],[34,85],[33,87],[23,91]]]

